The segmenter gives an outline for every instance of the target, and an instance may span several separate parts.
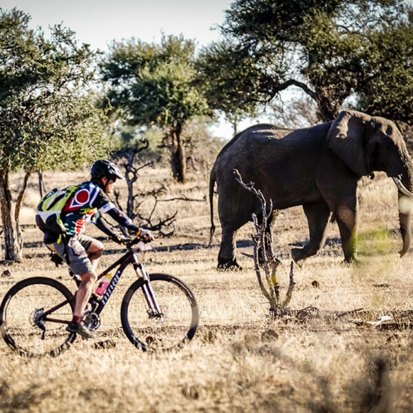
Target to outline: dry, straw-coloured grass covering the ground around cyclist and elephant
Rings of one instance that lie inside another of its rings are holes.
[[[86,173],[45,175],[48,187],[86,178]],[[167,171],[150,171],[141,182],[149,186],[167,176]],[[184,185],[169,182],[168,187],[171,195],[185,193],[200,199],[208,191],[204,178]],[[29,198],[27,209],[36,204],[35,193]],[[150,355],[136,350],[120,325],[120,302],[134,281],[128,273],[103,310],[98,339],[76,339],[61,356],[43,359],[23,359],[0,342],[0,412],[412,411],[410,330],[359,327],[348,319],[306,323],[273,319],[250,259],[240,257],[243,271],[215,271],[220,231],[208,247],[208,202],[165,202],[161,207],[165,213],[179,210],[176,235],[156,240],[154,246],[169,248],[151,253],[148,267],[152,273],[180,277],[195,293],[201,313],[195,339],[180,351]],[[151,200],[142,208],[150,209]],[[290,308],[315,306],[328,313],[363,307],[371,317],[413,308],[413,256],[408,253],[400,260],[396,254],[401,241],[392,182],[383,177],[364,182],[360,212],[361,264],[341,264],[337,224],[330,224],[326,246],[295,268],[297,286]],[[250,233],[251,226],[240,230],[239,253],[251,253]],[[290,244],[308,237],[300,208],[282,211],[275,235],[284,263],[279,282],[285,291]],[[66,270],[56,270],[48,260],[41,233],[26,229],[24,236],[27,259],[24,264],[0,267],[0,273],[11,273],[0,277],[0,296],[15,282],[34,275],[61,277],[63,284],[72,287]],[[103,257],[102,266],[121,253],[111,242],[106,248],[114,253]],[[314,281],[318,287],[312,285]],[[114,348],[94,348],[94,343],[109,338],[116,341]]]

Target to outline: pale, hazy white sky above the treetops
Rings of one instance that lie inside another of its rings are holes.
[[[0,8],[16,7],[32,17],[32,28],[63,23],[76,32],[76,39],[92,49],[107,50],[112,40],[141,39],[158,43],[165,34],[183,34],[198,47],[218,40],[217,25],[232,0],[0,0]],[[215,30],[213,30],[215,28]],[[255,123],[255,122],[252,122]],[[246,121],[246,126],[251,122]],[[223,118],[211,127],[215,136],[230,139],[231,125]]]

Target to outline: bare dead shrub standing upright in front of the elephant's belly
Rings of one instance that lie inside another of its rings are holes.
[[[271,217],[271,214],[275,213],[278,215],[279,210],[273,211],[273,201],[270,199],[268,200],[268,208],[267,202],[262,194],[262,192],[258,189],[254,188],[254,183],[250,182],[249,184],[245,184],[242,181],[242,177],[240,172],[237,169],[233,171],[235,175],[235,180],[242,185],[246,190],[252,192],[261,202],[261,211],[262,211],[262,221],[261,223],[258,222],[257,215],[255,213],[251,214],[253,218],[255,234],[251,234],[251,237],[254,242],[254,268],[255,274],[257,275],[258,285],[264,294],[264,297],[268,299],[271,308],[285,308],[288,306],[290,299],[293,295],[293,288],[294,288],[294,273],[293,273],[293,262],[291,262],[290,266],[290,284],[288,286],[288,290],[286,293],[286,298],[282,302],[279,302],[279,284],[277,282],[276,271],[277,267],[281,262],[277,260],[275,257],[274,248],[273,248],[273,240],[271,235],[268,233],[268,219]],[[268,211],[268,212],[267,212]],[[264,268],[264,273],[266,277],[266,285],[268,286],[268,290],[264,283],[262,282],[261,271],[260,267]]]

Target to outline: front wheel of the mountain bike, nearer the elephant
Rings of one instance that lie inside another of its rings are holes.
[[[143,279],[132,284],[120,309],[123,331],[137,348],[171,350],[193,339],[199,322],[199,310],[192,291],[176,277],[149,275],[151,287],[165,317],[150,317],[142,286]]]

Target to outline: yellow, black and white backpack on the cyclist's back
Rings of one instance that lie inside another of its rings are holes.
[[[78,189],[78,185],[71,185],[65,189],[52,189],[41,198],[36,212],[36,225],[41,231],[52,233],[65,233],[65,225],[61,220],[63,208],[67,201]]]

